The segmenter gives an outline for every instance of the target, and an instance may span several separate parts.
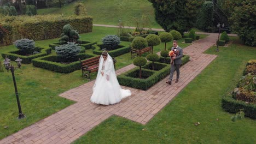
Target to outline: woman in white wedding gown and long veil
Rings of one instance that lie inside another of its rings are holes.
[[[106,51],[102,52],[98,74],[91,96],[91,102],[102,105],[119,103],[121,99],[129,97],[131,91],[122,89],[115,75],[113,59]]]

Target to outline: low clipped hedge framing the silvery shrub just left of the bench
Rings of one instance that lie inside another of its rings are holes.
[[[89,55],[87,53],[79,53],[78,57],[79,56],[88,56],[88,58],[95,57],[95,55]],[[48,57],[60,57],[60,56],[50,55],[50,56],[39,57],[39,58],[33,59],[32,63],[35,67],[56,71],[58,73],[66,73],[66,74],[72,73],[75,70],[81,69],[80,61],[69,63],[69,64],[61,64],[61,63],[57,63],[57,62],[51,62],[51,61],[44,60],[44,58],[48,58]],[[88,59],[88,58],[86,58],[86,59]]]

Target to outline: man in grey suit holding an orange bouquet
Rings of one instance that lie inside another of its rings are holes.
[[[168,81],[166,81],[166,83],[168,83],[169,85],[172,85],[172,77],[173,77],[173,73],[176,70],[177,72],[177,77],[176,77],[176,83],[179,82],[179,67],[181,67],[182,64],[182,57],[183,57],[183,51],[182,48],[178,46],[178,42],[177,40],[173,40],[172,41],[173,47],[172,47],[172,51],[174,51],[174,53],[176,54],[176,56],[171,57],[173,59],[173,64],[171,64],[171,73],[170,73],[170,77],[168,79]]]

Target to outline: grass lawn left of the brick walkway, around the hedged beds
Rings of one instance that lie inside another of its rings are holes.
[[[101,42],[101,39],[107,34],[117,34],[117,28],[93,27],[91,33],[80,34],[81,40]],[[36,41],[36,46],[48,47],[57,39]],[[181,47],[190,44],[182,44],[184,39],[179,40]],[[129,45],[130,42],[122,41],[121,45]],[[168,43],[170,47],[172,43]],[[154,52],[164,49],[164,43],[155,46]],[[0,55],[2,52],[16,50],[14,45],[0,47]],[[53,55],[55,52],[51,55]],[[87,50],[86,53],[92,53]],[[146,56],[146,55],[145,55]],[[116,57],[117,69],[123,68],[132,63],[130,53]],[[0,57],[1,63],[3,58]],[[11,62],[16,65],[15,62]],[[96,73],[92,73],[92,79],[95,79]],[[74,101],[61,98],[58,95],[68,89],[78,87],[88,80],[81,77],[81,71],[77,70],[70,74],[55,73],[54,71],[33,67],[32,64],[22,64],[21,69],[15,70],[16,83],[20,96],[20,103],[25,119],[18,120],[18,106],[13,86],[11,73],[0,72],[0,139],[15,133],[16,131],[31,125],[40,119],[50,116],[53,113],[75,103]],[[7,126],[7,129],[4,127]]]

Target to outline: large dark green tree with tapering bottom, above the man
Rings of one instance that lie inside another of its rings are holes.
[[[171,29],[176,29],[183,34],[193,27],[197,9],[203,1],[149,0],[149,2],[151,2],[155,8],[156,21],[166,32],[171,31]]]

